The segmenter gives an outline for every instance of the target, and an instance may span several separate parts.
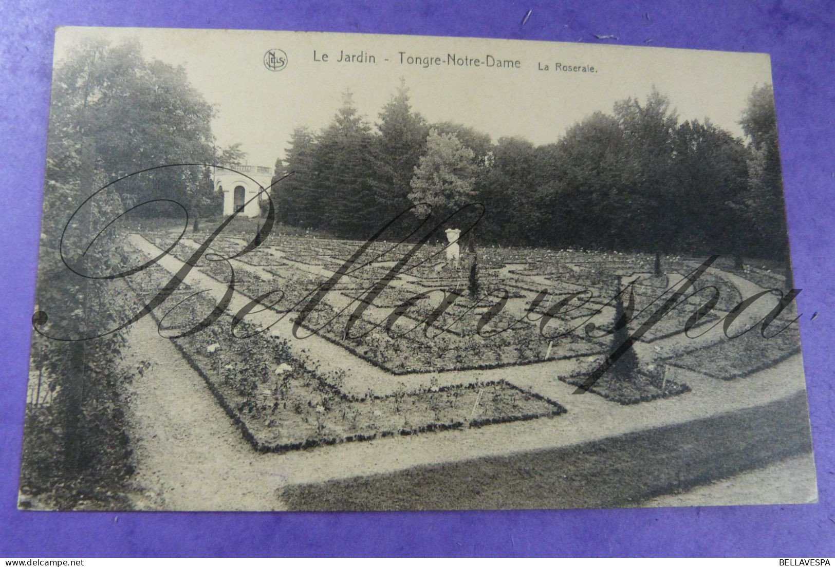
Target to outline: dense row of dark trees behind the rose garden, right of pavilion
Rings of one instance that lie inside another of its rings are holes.
[[[574,124],[553,144],[493,142],[429,124],[397,89],[375,128],[352,96],[321,132],[296,129],[276,175],[282,220],[348,238],[372,235],[412,203],[487,212],[478,240],[500,245],[776,257],[787,252],[770,85],[751,93],[746,139],[681,121],[655,91]]]

